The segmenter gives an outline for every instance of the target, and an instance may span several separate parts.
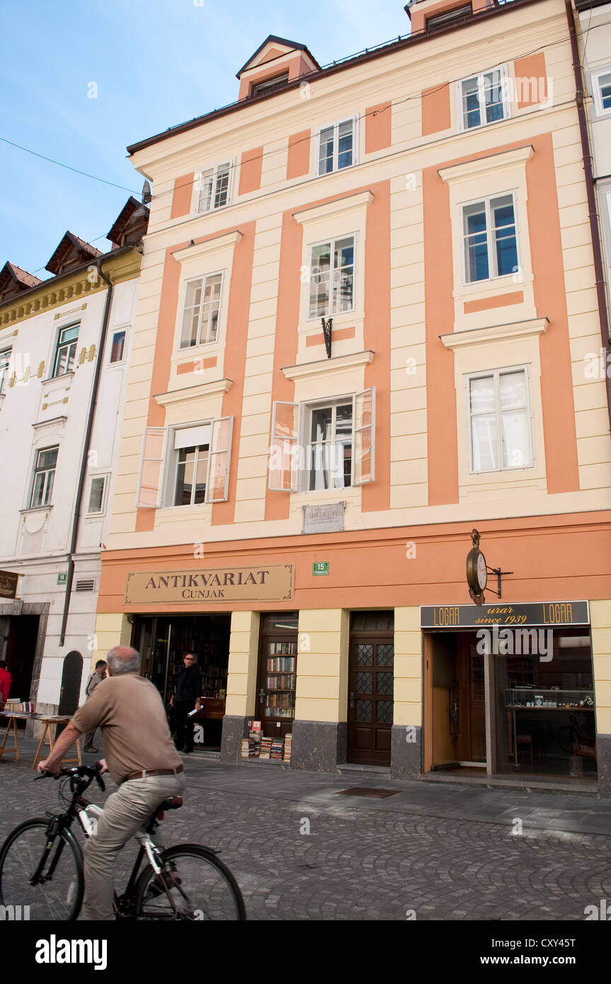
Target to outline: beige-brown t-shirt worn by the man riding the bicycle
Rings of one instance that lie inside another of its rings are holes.
[[[83,733],[101,728],[104,759],[117,783],[132,772],[182,765],[159,692],[137,673],[102,680],[72,723]]]

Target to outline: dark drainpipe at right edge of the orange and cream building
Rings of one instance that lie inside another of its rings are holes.
[[[575,15],[573,13],[572,0],[565,0],[565,7],[567,11],[567,21],[569,22],[571,51],[573,54],[573,71],[575,74],[576,90],[575,101],[577,103],[578,118],[580,121],[581,153],[583,155],[583,172],[585,176],[585,189],[587,192],[587,211],[589,214],[592,252],[594,254],[594,273],[596,276],[596,297],[598,300],[598,314],[600,317],[600,335],[602,338],[602,348],[605,353],[604,373],[605,386],[607,390],[607,411],[609,414],[609,424],[611,426],[611,379],[609,378],[609,372],[611,371],[611,357],[609,346],[609,315],[605,290],[602,247],[600,244],[600,232],[598,229],[596,192],[594,190],[594,179],[592,175],[592,154],[589,146],[589,134],[587,131],[585,107],[583,105],[583,73],[581,70],[580,49],[578,46],[577,32],[575,30]]]

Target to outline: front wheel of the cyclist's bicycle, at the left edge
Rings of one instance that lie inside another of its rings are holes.
[[[48,830],[48,820],[29,820],[0,848],[5,918],[64,921],[79,915],[85,887],[81,849],[68,830],[58,832],[49,849]],[[34,876],[38,881],[31,885]]]

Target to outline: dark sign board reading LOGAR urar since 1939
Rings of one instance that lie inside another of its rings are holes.
[[[589,625],[587,601],[540,601],[491,605],[421,605],[422,629],[477,629],[484,625]]]

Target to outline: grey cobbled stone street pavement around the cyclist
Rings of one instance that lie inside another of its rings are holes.
[[[20,744],[24,761],[0,762],[0,841],[58,803],[58,783],[31,782],[34,744]],[[183,761],[188,793],[166,815],[165,842],[220,850],[249,919],[582,921],[611,899],[611,800],[593,793]],[[393,795],[341,792],[354,787]]]

